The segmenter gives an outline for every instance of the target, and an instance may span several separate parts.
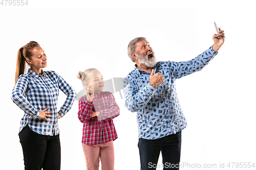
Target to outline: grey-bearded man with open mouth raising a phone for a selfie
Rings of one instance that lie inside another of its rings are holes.
[[[186,118],[177,97],[175,81],[201,70],[218,54],[225,40],[224,31],[212,39],[214,44],[187,62],[156,61],[150,43],[143,37],[128,45],[135,68],[124,79],[125,106],[137,112],[138,148],[141,169],[156,169],[160,151],[164,169],[179,169],[181,131]]]

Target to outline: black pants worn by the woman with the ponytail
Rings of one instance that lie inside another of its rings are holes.
[[[60,141],[59,135],[40,135],[27,125],[19,133],[26,170],[59,170]]]

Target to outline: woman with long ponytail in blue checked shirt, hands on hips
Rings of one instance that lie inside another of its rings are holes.
[[[26,62],[30,69],[24,74]],[[19,48],[11,99],[25,112],[19,128],[25,169],[60,169],[58,118],[70,110],[76,96],[56,72],[43,71],[46,66],[47,56],[37,42]],[[67,99],[57,111],[59,89]]]

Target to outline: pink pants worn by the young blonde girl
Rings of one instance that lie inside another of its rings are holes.
[[[87,170],[99,169],[99,158],[102,170],[114,170],[114,144],[113,141],[88,145],[82,143],[84,156],[86,157]]]

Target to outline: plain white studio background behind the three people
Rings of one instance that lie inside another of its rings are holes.
[[[226,36],[219,54],[202,71],[176,82],[188,121],[182,131],[181,162],[201,167],[255,162],[253,1],[28,0],[28,3],[28,6],[0,5],[1,169],[24,169],[17,135],[24,112],[10,99],[20,47],[31,40],[37,41],[48,57],[44,70],[55,70],[78,93],[82,90],[76,78],[78,71],[95,67],[104,80],[125,77],[134,68],[127,56],[127,45],[136,37],[147,38],[158,61],[195,58],[213,44],[215,21]],[[118,134],[114,141],[115,169],[139,169],[136,114],[124,107],[119,93],[114,95],[120,107],[120,116],[114,120]],[[58,107],[65,99],[60,92]],[[86,169],[81,148],[82,124],[77,111],[75,101],[59,120],[63,170]]]

